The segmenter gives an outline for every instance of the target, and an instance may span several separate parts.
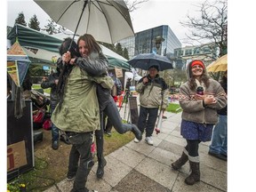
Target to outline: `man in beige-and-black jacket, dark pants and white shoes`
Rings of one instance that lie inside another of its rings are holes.
[[[140,93],[140,116],[138,127],[140,132],[146,128],[146,141],[153,145],[152,133],[154,132],[158,109],[165,110],[168,103],[168,87],[164,79],[158,75],[159,66],[152,65],[148,68],[148,76],[143,76],[136,86]],[[147,121],[148,117],[148,121]],[[134,139],[134,142],[140,140]]]

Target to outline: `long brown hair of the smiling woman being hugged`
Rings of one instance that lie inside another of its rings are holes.
[[[81,40],[83,40],[87,45],[89,54],[91,54],[92,52],[101,52],[100,44],[96,42],[92,35],[84,34],[83,36],[80,36],[77,40],[77,44],[79,44]]]

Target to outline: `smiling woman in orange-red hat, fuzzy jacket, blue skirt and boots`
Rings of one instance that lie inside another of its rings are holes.
[[[179,170],[189,161],[191,173],[185,182],[194,185],[200,180],[199,143],[211,140],[213,125],[218,121],[217,110],[226,106],[227,99],[220,83],[207,75],[202,60],[188,63],[187,76],[188,81],[180,86],[179,99],[183,109],[180,133],[187,146],[172,168]]]

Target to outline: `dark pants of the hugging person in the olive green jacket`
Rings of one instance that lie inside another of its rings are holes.
[[[75,174],[72,192],[88,192],[85,183],[89,172],[92,170],[92,132],[67,132],[68,138],[72,144],[69,154],[68,174]],[[80,162],[78,165],[78,160]]]

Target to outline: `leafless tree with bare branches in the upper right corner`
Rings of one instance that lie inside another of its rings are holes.
[[[199,7],[199,6],[198,6]],[[220,48],[220,56],[227,53],[228,1],[205,1],[200,7],[199,18],[190,17],[180,24],[189,28],[188,42],[214,43]]]

